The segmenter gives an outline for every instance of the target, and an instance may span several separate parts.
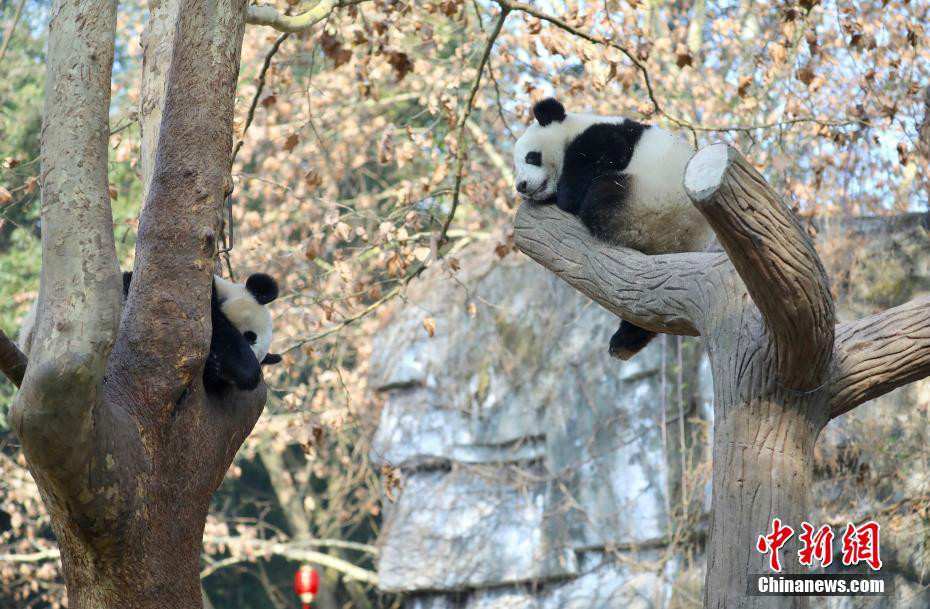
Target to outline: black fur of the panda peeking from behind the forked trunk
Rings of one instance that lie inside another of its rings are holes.
[[[272,295],[269,300],[262,302],[258,294],[252,290],[250,282],[253,277],[261,275],[254,286],[263,298]],[[270,280],[270,284],[268,281]],[[129,294],[129,286],[132,282],[132,273],[127,271],[123,273],[123,295]],[[272,289],[273,288],[273,289]],[[246,281],[246,289],[255,296],[261,304],[267,304],[278,296],[278,285],[274,279],[264,273],[255,273]],[[216,285],[212,286],[212,295],[210,297],[210,323],[213,327],[213,333],[210,336],[210,353],[207,355],[206,364],[203,368],[203,386],[212,394],[222,394],[230,387],[235,387],[242,391],[251,391],[258,387],[262,380],[261,366],[252,351],[251,344],[255,342],[253,338],[251,343],[246,336],[240,332],[236,326],[229,321],[223,310],[220,308],[220,300],[216,295]],[[247,334],[251,334],[248,332]],[[269,353],[262,360],[263,364],[276,364],[281,361],[281,356]]]

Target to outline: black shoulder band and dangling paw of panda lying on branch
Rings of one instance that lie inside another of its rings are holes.
[[[561,104],[560,104],[561,105]],[[633,158],[633,149],[649,125],[625,120],[598,123],[585,129],[565,149],[556,204],[578,216],[596,238],[610,242],[622,222],[630,194],[630,176],[622,173]],[[623,321],[610,339],[608,352],[629,359],[655,337]]]

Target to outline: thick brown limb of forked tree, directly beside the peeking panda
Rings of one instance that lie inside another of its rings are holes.
[[[114,372],[174,407],[203,370],[246,0],[184,3]],[[211,8],[212,7],[212,8]],[[154,330],[153,330],[154,329]]]

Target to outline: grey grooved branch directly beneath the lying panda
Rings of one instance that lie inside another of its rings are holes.
[[[655,332],[700,334],[708,310],[702,283],[728,266],[723,254],[647,256],[607,245],[555,205],[524,203],[514,229],[517,247],[530,258],[605,309]]]

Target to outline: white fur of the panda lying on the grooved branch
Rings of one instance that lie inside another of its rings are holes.
[[[565,149],[585,129],[597,123],[622,123],[620,116],[569,112],[562,122],[545,127],[533,123],[514,146],[515,186],[526,181],[524,198],[543,201],[553,197],[562,174]],[[529,152],[542,152],[542,166],[526,163]],[[713,231],[691,203],[684,189],[684,173],[694,149],[683,139],[651,126],[633,148],[622,173],[633,177],[626,202],[627,225],[614,241],[647,254],[705,249]]]

